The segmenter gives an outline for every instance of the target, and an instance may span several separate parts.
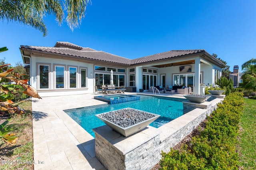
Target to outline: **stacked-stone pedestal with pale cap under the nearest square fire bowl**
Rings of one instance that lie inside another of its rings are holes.
[[[124,137],[107,125],[94,128],[95,154],[109,170],[148,170],[160,160],[159,131],[151,126]]]

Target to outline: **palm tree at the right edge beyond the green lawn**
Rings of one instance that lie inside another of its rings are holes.
[[[244,88],[248,90],[256,90],[256,59],[250,59],[242,64],[242,75]]]

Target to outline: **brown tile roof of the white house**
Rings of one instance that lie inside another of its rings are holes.
[[[60,48],[60,45],[64,45]],[[54,47],[40,47],[40,46],[29,46],[29,45],[21,45],[20,49],[26,50],[35,50],[35,51],[43,51],[48,53],[55,53],[60,55],[67,55],[71,57],[81,57],[85,59],[94,59],[98,61],[107,61],[118,64],[140,64],[151,61],[159,61],[162,59],[170,59],[174,57],[180,57],[190,54],[196,53],[207,53],[204,49],[195,49],[195,50],[172,50],[164,53],[158,53],[146,57],[140,57],[138,59],[127,59],[124,57],[120,57],[117,55],[113,55],[110,53],[106,53],[104,51],[97,51],[88,47],[81,47],[69,42],[58,41]],[[68,48],[70,47],[70,48]],[[207,53],[209,54],[209,53]],[[210,54],[209,54],[210,55]]]

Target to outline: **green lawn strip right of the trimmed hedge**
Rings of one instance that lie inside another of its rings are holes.
[[[240,122],[238,152],[240,167],[244,170],[256,169],[256,100],[244,99],[244,114]]]

